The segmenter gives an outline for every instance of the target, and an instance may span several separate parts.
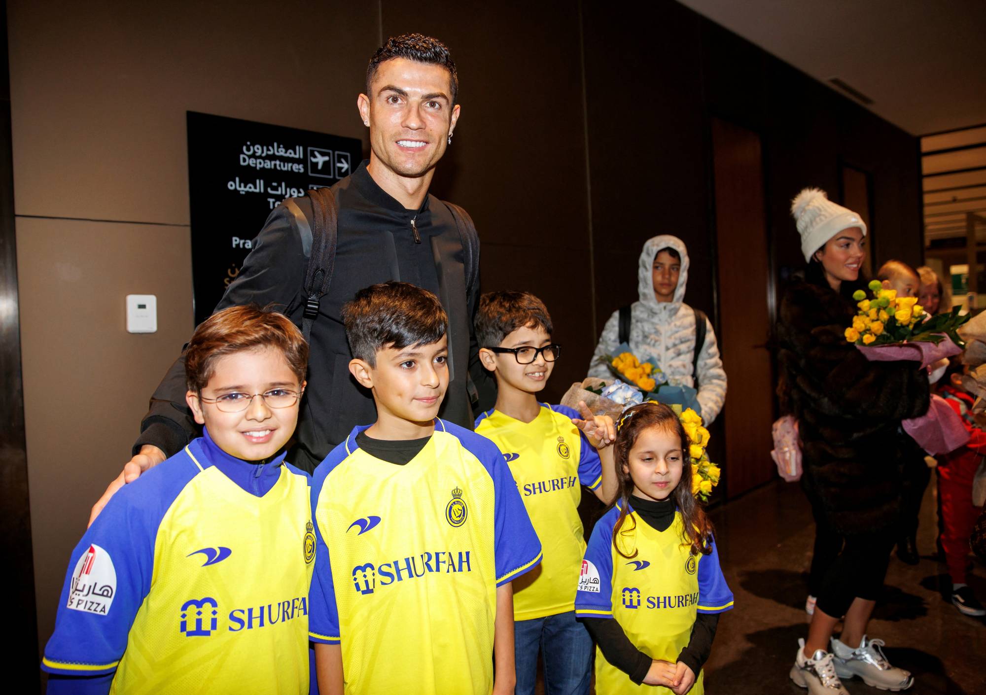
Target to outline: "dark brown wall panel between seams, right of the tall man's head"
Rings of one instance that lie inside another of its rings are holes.
[[[483,291],[547,305],[564,356],[544,397],[582,381],[592,329],[579,13],[574,2],[384,0],[384,35],[421,32],[453,52],[461,116],[432,186],[472,215]]]

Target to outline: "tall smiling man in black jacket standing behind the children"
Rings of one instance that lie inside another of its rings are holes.
[[[312,328],[308,387],[290,453],[291,461],[303,468],[313,469],[353,426],[376,417],[373,398],[349,375],[352,358],[339,316],[342,305],[364,287],[400,280],[430,290],[442,301],[450,321],[450,383],[442,417],[472,428],[470,367],[479,391],[489,391],[472,336],[479,279],[465,277],[455,218],[428,193],[435,166],[452,143],[460,110],[457,92],[455,63],[434,38],[391,37],[370,60],[367,93],[357,105],[370,128],[371,156],[332,186],[338,206],[335,266]],[[274,304],[300,323],[313,219],[307,197],[290,198],[275,208],[216,311]],[[178,358],[152,396],[133,458],[93,508],[90,522],[125,482],[197,435],[185,390]]]

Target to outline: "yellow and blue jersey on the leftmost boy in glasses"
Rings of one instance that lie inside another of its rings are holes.
[[[117,492],[76,548],[42,667],[115,669],[128,695],[308,693],[311,479],[281,458],[258,497],[198,439]]]

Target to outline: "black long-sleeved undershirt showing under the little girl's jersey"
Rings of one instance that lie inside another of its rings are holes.
[[[630,498],[630,504],[633,511],[656,530],[665,531],[674,521],[675,507],[671,498],[644,500],[634,495]],[[620,624],[614,618],[582,618],[582,621],[599,645],[605,660],[630,676],[630,680],[637,685],[643,683],[653,659],[633,646]],[[681,650],[677,659],[691,668],[695,677],[709,660],[718,625],[718,613],[698,613],[695,616],[688,646]]]

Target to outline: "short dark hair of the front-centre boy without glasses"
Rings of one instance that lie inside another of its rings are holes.
[[[342,322],[353,357],[377,366],[377,352],[437,343],[449,316],[438,297],[406,282],[365,287],[342,307]]]

